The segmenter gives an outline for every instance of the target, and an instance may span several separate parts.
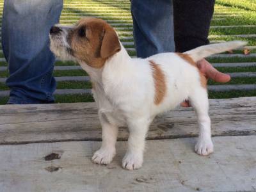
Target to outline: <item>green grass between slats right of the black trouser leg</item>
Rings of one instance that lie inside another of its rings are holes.
[[[254,0],[216,0],[215,11],[217,14],[241,14],[239,17],[223,16],[225,20],[212,20],[211,26],[236,26],[236,25],[255,25],[256,24],[256,1]],[[225,13],[223,13],[225,12]],[[218,17],[220,18],[220,17]],[[210,35],[240,35],[256,34],[256,28],[219,28],[210,29]],[[248,45],[256,45],[256,38],[237,38],[237,37],[220,37],[210,38],[210,40],[246,40]],[[254,50],[251,52],[255,52]],[[234,53],[243,53],[234,51]],[[256,58],[209,58],[210,63],[240,63],[255,62]],[[255,67],[219,67],[222,72],[255,72]],[[256,83],[255,77],[237,77],[232,78],[227,84],[253,84]],[[209,84],[220,84],[209,81]],[[232,92],[209,92],[209,98],[232,98],[232,97],[256,96],[256,90],[252,91],[232,91]]]

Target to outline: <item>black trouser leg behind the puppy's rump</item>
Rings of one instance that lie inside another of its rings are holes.
[[[215,0],[173,1],[174,40],[177,52],[209,44],[208,35]]]

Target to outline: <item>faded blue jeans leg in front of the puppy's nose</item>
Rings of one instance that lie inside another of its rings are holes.
[[[63,0],[5,0],[2,47],[10,76],[9,104],[54,102],[54,55],[49,30],[59,22]]]

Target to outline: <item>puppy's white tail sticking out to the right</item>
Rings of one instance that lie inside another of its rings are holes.
[[[210,44],[204,45],[201,47],[197,47],[196,49],[192,49],[190,51],[184,52],[184,54],[188,54],[193,61],[202,60],[202,58],[206,58],[207,56],[211,56],[212,54],[230,51],[232,49],[237,49],[246,45],[247,42],[244,41],[232,41],[232,42],[225,42],[220,44]]]

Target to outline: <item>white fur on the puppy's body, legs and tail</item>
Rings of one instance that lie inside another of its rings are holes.
[[[201,47],[187,53],[197,61],[201,56],[227,51],[243,43],[234,44],[221,44],[220,47],[207,45],[204,49]],[[52,47],[54,49],[56,47]],[[155,87],[149,60],[159,65],[166,80],[166,95],[158,105],[154,103]],[[93,97],[102,124],[102,147],[93,155],[93,162],[108,164],[112,161],[116,153],[118,127],[128,126],[128,149],[122,166],[127,170],[140,168],[148,126],[157,114],[176,108],[186,99],[189,99],[198,117],[200,134],[196,153],[205,156],[213,152],[207,90],[200,84],[198,69],[177,54],[168,52],[146,59],[131,58],[122,46],[121,51],[109,58],[100,69],[89,67],[83,61],[78,62],[93,81]]]

